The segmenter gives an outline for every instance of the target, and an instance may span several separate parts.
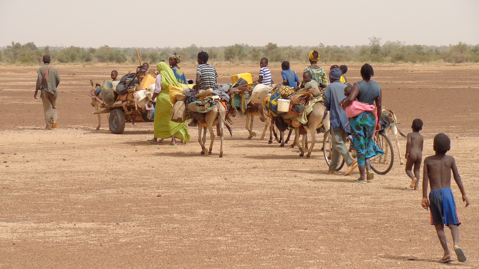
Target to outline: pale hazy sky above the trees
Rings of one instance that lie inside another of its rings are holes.
[[[0,47],[479,43],[479,0],[0,0]]]

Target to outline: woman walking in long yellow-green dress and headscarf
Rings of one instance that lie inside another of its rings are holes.
[[[156,98],[155,119],[154,119],[154,138],[147,140],[149,144],[157,145],[158,138],[171,137],[171,146],[176,146],[175,138],[190,142],[190,134],[185,123],[175,123],[171,121],[171,114],[173,112],[173,105],[170,101],[170,94],[168,85],[181,87],[176,80],[173,70],[165,63],[159,62],[157,65],[158,75],[156,76],[156,86],[151,100]],[[148,102],[148,107],[151,107],[153,101]]]

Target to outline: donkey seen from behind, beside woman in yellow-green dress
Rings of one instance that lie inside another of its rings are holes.
[[[213,126],[217,127],[217,135],[219,136],[219,140],[221,141],[220,149],[219,149],[219,157],[223,157],[223,127],[226,125],[228,128],[229,134],[233,136],[231,131],[231,127],[229,127],[228,123],[226,123],[226,109],[222,104],[216,103],[213,108],[206,112],[206,113],[191,113],[194,118],[198,121],[198,143],[201,146],[201,154],[205,154],[205,144],[206,144],[206,128],[210,133],[210,147],[208,150],[208,155],[211,154],[213,149],[213,142],[215,141],[215,133],[213,133]],[[204,118],[203,118],[204,116]],[[203,132],[203,137],[201,134]]]

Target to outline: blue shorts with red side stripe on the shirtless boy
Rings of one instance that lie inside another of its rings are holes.
[[[429,193],[429,209],[431,210],[431,225],[460,225],[457,216],[456,202],[451,189],[434,189]]]

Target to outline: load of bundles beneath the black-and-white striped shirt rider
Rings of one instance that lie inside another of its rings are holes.
[[[168,88],[170,90],[170,100],[173,104],[172,122],[184,123],[188,113],[198,116],[197,113],[206,113],[217,103],[221,103],[227,110],[226,104],[229,101],[228,84],[219,84],[217,89],[199,91],[191,88],[180,89],[174,86]],[[177,91],[174,91],[174,89]]]

